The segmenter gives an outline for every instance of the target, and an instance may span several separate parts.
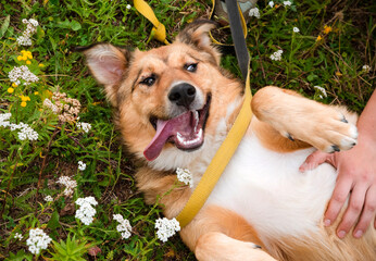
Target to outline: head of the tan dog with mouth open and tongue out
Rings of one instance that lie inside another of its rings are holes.
[[[213,26],[197,21],[174,44],[149,51],[108,44],[84,51],[117,110],[130,152],[158,169],[184,166],[203,147],[213,149],[209,140],[226,134],[226,121],[236,108],[229,112],[229,105],[241,99],[239,83],[220,67],[220,52],[211,46],[208,33]]]

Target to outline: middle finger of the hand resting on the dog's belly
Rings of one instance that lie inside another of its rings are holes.
[[[367,184],[360,184],[356,185],[350,195],[349,206],[342,216],[342,220],[337,228],[337,235],[339,238],[343,238],[351,227],[353,227],[361,215],[363,206],[364,206],[364,199],[365,194],[368,186]]]

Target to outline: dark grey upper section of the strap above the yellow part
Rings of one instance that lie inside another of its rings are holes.
[[[242,33],[238,2],[236,0],[226,0],[226,7],[236,57],[238,59],[242,78],[246,79],[249,66],[249,53],[245,34]]]

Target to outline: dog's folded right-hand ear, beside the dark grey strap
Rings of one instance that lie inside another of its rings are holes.
[[[188,24],[176,37],[176,41],[198,48],[211,54],[215,64],[220,65],[221,53],[212,46],[209,32],[216,27],[216,23],[210,20],[197,20]]]

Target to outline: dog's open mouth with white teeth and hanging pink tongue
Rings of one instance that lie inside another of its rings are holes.
[[[205,105],[198,111],[187,111],[167,121],[156,119],[154,127],[156,133],[143,151],[148,161],[160,156],[163,146],[170,141],[180,150],[196,150],[203,145],[204,127],[209,116],[211,96],[206,98]]]

